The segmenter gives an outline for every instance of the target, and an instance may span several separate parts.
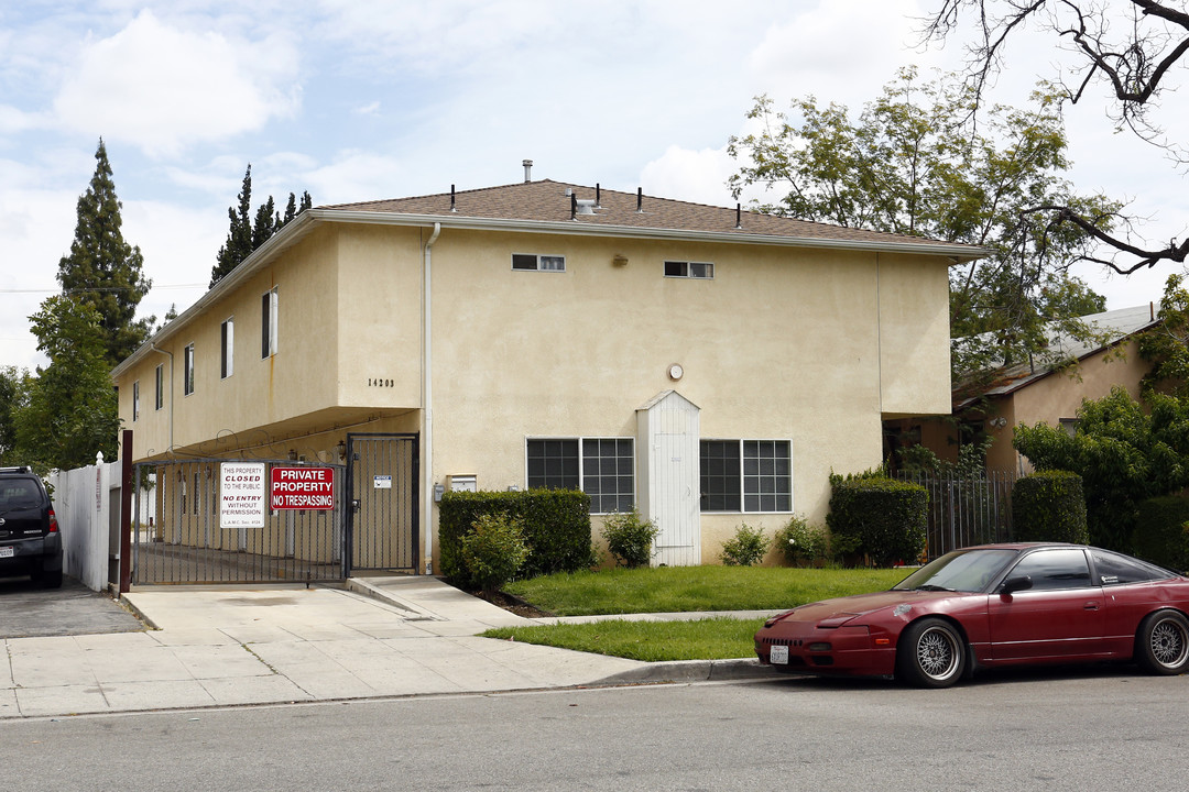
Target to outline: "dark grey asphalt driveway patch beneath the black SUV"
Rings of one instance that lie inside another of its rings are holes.
[[[71,577],[43,589],[27,577],[0,577],[0,639],[97,635],[145,629],[132,612]]]

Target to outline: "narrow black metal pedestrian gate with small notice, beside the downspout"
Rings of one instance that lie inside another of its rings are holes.
[[[416,435],[347,435],[352,569],[417,571],[419,454]]]

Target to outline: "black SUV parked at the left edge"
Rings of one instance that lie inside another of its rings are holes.
[[[45,484],[32,468],[0,468],[0,576],[31,575],[62,585],[62,533]]]

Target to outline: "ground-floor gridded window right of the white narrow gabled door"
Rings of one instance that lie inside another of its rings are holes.
[[[791,512],[792,443],[702,441],[703,512]]]

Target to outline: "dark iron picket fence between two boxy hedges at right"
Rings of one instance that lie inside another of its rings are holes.
[[[900,474],[899,479],[929,490],[929,559],[958,547],[1011,540],[1014,474]]]

